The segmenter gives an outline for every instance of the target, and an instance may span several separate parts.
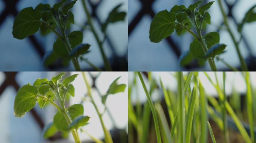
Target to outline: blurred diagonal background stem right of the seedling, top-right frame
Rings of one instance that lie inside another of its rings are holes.
[[[227,30],[228,30],[228,33],[229,33],[229,35],[231,36],[232,41],[233,41],[233,43],[234,43],[234,45],[235,45],[235,50],[237,51],[238,58],[239,58],[239,60],[240,60],[241,69],[242,69],[242,71],[249,71],[249,69],[248,69],[248,67],[247,67],[247,64],[246,64],[246,61],[245,61],[244,58],[242,57],[241,52],[240,52],[240,50],[239,50],[238,42],[235,40],[235,36],[234,36],[234,34],[232,33],[231,28],[230,28],[230,26],[229,26],[228,17],[226,16],[226,13],[224,12],[222,3],[221,3],[220,0],[218,0],[218,3],[219,3],[220,11],[221,11],[222,16],[223,16],[224,24],[226,25]]]

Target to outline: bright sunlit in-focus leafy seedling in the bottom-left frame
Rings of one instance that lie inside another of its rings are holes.
[[[53,136],[58,130],[62,132],[71,132],[75,143],[81,143],[77,130],[87,124],[88,116],[83,114],[83,105],[74,104],[65,108],[65,99],[68,96],[74,97],[74,86],[71,84],[78,74],[66,77],[62,80],[65,73],[60,73],[52,77],[51,80],[46,78],[37,79],[33,85],[29,83],[22,86],[15,97],[14,115],[22,117],[26,112],[35,107],[36,102],[40,108],[46,104],[52,104],[58,109],[54,115],[53,122],[46,125],[43,129],[45,138]],[[59,102],[59,105],[55,102]]]

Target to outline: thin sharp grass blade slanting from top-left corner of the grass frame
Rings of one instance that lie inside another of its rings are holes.
[[[151,109],[151,111],[152,111],[153,120],[154,120],[154,124],[155,124],[155,130],[156,130],[157,142],[158,142],[158,143],[162,143],[162,141],[161,141],[161,136],[160,136],[159,125],[158,125],[158,120],[157,120],[156,111],[155,111],[153,102],[152,102],[152,100],[151,100],[151,97],[150,97],[150,95],[149,95],[149,92],[147,91],[147,88],[146,88],[146,85],[145,85],[145,83],[144,83],[144,80],[143,80],[143,78],[142,78],[142,76],[141,76],[141,73],[140,73],[139,71],[137,71],[137,73],[138,73],[138,76],[140,77],[141,84],[142,84],[142,86],[143,86],[144,92],[146,93],[147,101],[149,102],[149,106],[150,106],[150,109]]]

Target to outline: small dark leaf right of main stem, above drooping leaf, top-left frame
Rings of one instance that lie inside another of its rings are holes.
[[[68,39],[70,41],[71,48],[76,47],[81,44],[83,41],[83,32],[82,31],[73,31],[68,34]]]

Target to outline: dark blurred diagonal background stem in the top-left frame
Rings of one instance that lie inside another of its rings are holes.
[[[86,6],[85,0],[82,0],[82,5],[83,5],[83,9],[85,10],[85,13],[86,13],[86,16],[87,16],[87,22],[90,25],[91,31],[92,31],[92,33],[93,33],[93,35],[94,35],[94,37],[95,37],[95,39],[97,41],[97,44],[98,44],[98,46],[100,48],[100,53],[101,53],[101,56],[103,58],[105,68],[106,68],[107,71],[112,71],[112,68],[110,66],[110,62],[107,59],[106,54],[105,54],[105,52],[103,50],[102,42],[100,41],[100,38],[99,38],[98,34],[95,31],[94,25],[92,24],[92,18],[91,18],[91,15],[89,13],[89,10],[88,10],[88,8]]]

